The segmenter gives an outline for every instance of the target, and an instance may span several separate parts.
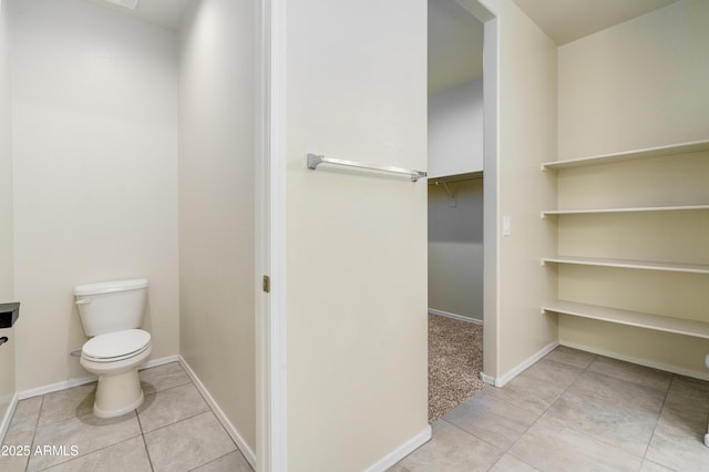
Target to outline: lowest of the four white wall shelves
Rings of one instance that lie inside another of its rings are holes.
[[[618,325],[635,326],[656,331],[675,332],[695,338],[709,339],[709,322],[693,321],[689,319],[669,318],[659,315],[639,311],[621,310],[617,308],[600,307],[597,305],[578,304],[575,301],[557,300],[542,307],[544,311],[580,318],[596,319],[615,322]]]

